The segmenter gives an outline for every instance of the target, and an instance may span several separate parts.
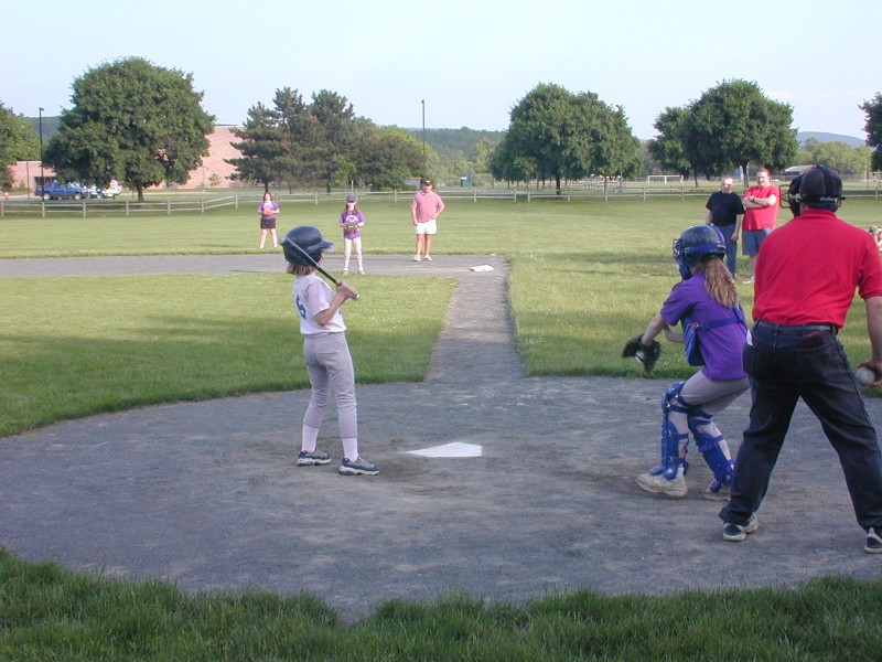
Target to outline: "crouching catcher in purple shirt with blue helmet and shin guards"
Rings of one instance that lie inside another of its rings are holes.
[[[637,477],[647,492],[686,496],[686,450],[689,433],[713,472],[708,499],[728,499],[734,478],[734,462],[725,437],[712,417],[722,412],[750,383],[741,365],[741,350],[747,325],[741,310],[735,281],[727,268],[725,241],[712,225],[696,225],[674,242],[674,258],[682,280],[674,286],[662,310],[625,345],[623,356],[635,356],[652,373],[660,354],[655,337],[662,331],[671,342],[684,334],[671,330],[682,322],[695,331],[691,355],[700,351],[703,366],[686,382],[676,382],[662,398],[662,463]],[[693,364],[695,359],[691,361]]]

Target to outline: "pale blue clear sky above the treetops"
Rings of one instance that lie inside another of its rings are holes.
[[[217,124],[282,87],[345,96],[378,125],[499,130],[539,83],[622,106],[634,135],[725,79],[793,107],[794,128],[865,138],[882,90],[882,1],[83,0],[10,2],[0,100],[35,117],[72,83],[128,56],[193,74]],[[424,104],[423,104],[424,100]]]

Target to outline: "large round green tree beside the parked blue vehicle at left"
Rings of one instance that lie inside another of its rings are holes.
[[[143,201],[147,186],[186,182],[208,153],[214,117],[192,74],[129,57],[89,70],[73,87],[73,108],[44,157],[63,179],[117,179]]]

